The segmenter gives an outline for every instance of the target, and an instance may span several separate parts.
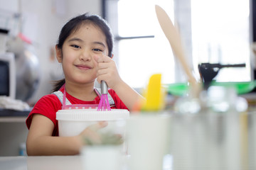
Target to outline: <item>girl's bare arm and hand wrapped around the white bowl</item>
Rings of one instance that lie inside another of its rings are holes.
[[[93,127],[92,127],[93,126]],[[28,132],[26,148],[31,155],[73,155],[79,154],[83,145],[82,136],[97,138],[97,131],[106,123],[98,123],[86,128],[80,135],[73,137],[53,137],[53,122],[44,115],[35,114]]]

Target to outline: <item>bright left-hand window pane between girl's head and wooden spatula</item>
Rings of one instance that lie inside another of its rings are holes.
[[[119,74],[130,86],[144,87],[151,74],[161,73],[162,81],[174,82],[174,57],[156,18],[153,0],[119,0],[117,15],[110,11],[107,20],[116,35],[114,55],[118,57]],[[159,0],[157,4],[173,11],[173,1]],[[112,15],[111,15],[112,14]],[[169,16],[174,16],[169,13]],[[116,22],[114,22],[116,21]],[[116,25],[116,23],[118,23]],[[113,28],[114,27],[114,28]],[[116,31],[115,31],[116,30]],[[117,49],[118,48],[118,49]]]

